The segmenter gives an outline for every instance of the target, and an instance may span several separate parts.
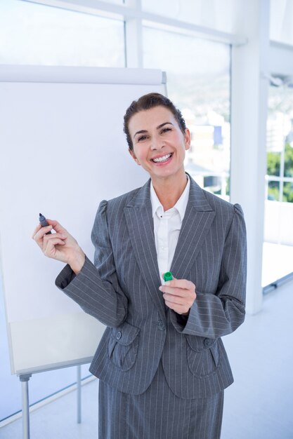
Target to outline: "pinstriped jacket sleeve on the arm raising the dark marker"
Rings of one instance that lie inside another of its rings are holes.
[[[82,270],[74,274],[69,265],[59,273],[56,286],[91,316],[110,327],[126,318],[127,298],[120,288],[108,232],[107,201],[98,207],[91,232],[94,264],[86,257]]]

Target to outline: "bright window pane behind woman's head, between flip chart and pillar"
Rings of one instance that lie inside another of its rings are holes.
[[[168,96],[190,129],[185,169],[229,199],[230,46],[152,27],[143,28],[143,46],[144,67],[167,72]]]

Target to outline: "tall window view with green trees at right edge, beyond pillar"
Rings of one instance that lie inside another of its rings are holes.
[[[266,144],[263,286],[293,271],[293,89],[286,85],[269,88]]]

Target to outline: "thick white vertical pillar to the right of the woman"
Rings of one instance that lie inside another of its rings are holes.
[[[247,224],[247,312],[262,306],[262,248],[266,175],[269,8],[267,0],[241,0],[237,32],[248,41],[232,48],[231,192]]]

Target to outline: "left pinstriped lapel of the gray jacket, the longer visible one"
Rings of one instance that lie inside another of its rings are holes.
[[[157,265],[155,248],[154,224],[152,219],[152,204],[150,202],[150,180],[136,192],[136,196],[124,208],[127,228],[131,239],[136,261],[141,270],[141,276],[159,310],[163,320],[166,319],[164,299],[159,291],[161,281]]]

